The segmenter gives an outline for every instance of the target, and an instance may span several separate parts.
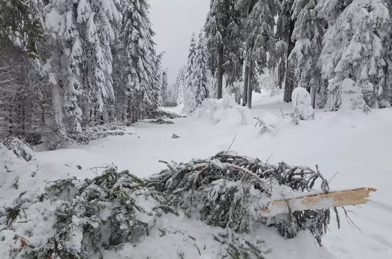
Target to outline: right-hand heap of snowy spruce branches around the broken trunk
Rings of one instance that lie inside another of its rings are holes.
[[[252,231],[257,212],[267,206],[271,195],[279,193],[272,193],[271,188],[274,190],[285,185],[284,188],[289,187],[286,191],[309,192],[320,179],[321,189],[324,192],[329,190],[317,165],[316,171],[285,162],[271,165],[234,151],[221,151],[208,159],[191,160],[185,164],[164,163],[169,169],[145,179],[146,186],[163,192],[167,205],[183,209],[185,215],[200,217],[209,225],[226,228],[227,237],[231,230],[233,240],[235,231]],[[284,196],[279,198],[285,199]],[[263,222],[275,225],[281,235],[288,238],[296,236],[301,229],[309,229],[321,245],[321,236],[327,232],[330,216],[330,209],[305,210],[289,212],[286,217],[279,215],[269,223]]]

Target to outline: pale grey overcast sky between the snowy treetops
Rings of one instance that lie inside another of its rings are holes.
[[[150,20],[156,33],[158,53],[166,51],[163,66],[169,67],[169,85],[186,65],[192,32],[198,36],[209,10],[210,0],[148,0]]]

